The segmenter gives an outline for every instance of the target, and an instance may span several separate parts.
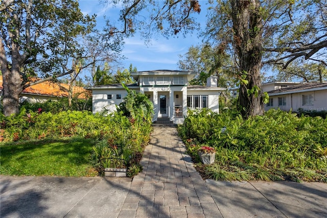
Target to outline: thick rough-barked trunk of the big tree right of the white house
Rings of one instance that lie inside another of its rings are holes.
[[[233,23],[233,45],[238,56],[240,70],[239,104],[243,118],[263,115],[264,104],[261,97],[263,48],[263,19],[259,0],[231,0]]]

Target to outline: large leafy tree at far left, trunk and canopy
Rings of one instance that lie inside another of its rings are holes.
[[[22,90],[74,72],[75,66],[65,71],[63,63],[83,58],[79,37],[94,27],[94,17],[84,16],[73,0],[4,0],[0,20],[2,100],[9,116],[18,113]]]

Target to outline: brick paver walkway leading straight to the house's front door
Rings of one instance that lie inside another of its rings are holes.
[[[175,127],[155,126],[119,217],[222,217]]]

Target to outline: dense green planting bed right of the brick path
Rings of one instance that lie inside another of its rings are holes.
[[[215,180],[327,182],[327,120],[270,110],[242,119],[204,109],[189,112],[178,128],[197,168]],[[216,161],[199,163],[200,146],[216,149]]]

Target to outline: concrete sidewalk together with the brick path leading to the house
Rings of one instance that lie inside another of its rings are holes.
[[[1,217],[327,217],[327,184],[203,181],[174,127],[127,178],[0,177]]]

